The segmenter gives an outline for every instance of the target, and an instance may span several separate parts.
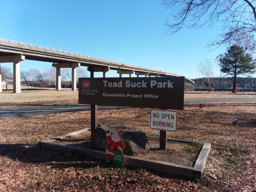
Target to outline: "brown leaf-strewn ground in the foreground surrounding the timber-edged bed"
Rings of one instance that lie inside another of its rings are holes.
[[[159,135],[149,109],[99,110],[98,121]],[[240,118],[238,126],[231,117]],[[90,112],[0,120],[0,191],[252,191],[256,189],[255,103],[191,104],[178,111],[168,137],[212,144],[201,180],[125,166],[113,168],[38,142],[90,127]]]

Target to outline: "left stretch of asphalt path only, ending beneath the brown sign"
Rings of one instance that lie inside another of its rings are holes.
[[[98,106],[98,109],[121,108],[115,106]],[[0,120],[17,117],[45,115],[50,113],[66,113],[75,111],[88,111],[90,105],[63,104],[63,105],[32,105],[13,108],[0,108]]]

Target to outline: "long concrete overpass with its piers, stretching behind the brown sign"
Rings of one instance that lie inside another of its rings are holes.
[[[180,76],[175,73],[169,73],[161,70],[154,70],[116,61],[89,57],[86,55],[63,51],[60,49],[53,49],[49,47],[0,38],[0,63],[13,63],[14,93],[20,93],[21,91],[20,62],[25,59],[52,62],[52,66],[56,67],[57,90],[61,90],[61,68],[72,68],[72,90],[76,90],[76,67],[79,66],[88,67],[87,70],[90,72],[103,72],[103,77],[106,77],[106,72],[109,70],[117,70],[117,73],[120,77],[122,77],[122,74],[129,74],[131,77],[131,74],[133,73],[135,73],[137,77]],[[194,90],[194,84],[194,81],[185,77],[185,90]],[[0,90],[0,92],[1,91],[2,90]]]

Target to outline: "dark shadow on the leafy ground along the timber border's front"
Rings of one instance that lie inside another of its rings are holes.
[[[66,169],[66,168],[109,168],[113,169],[113,166],[93,160],[91,157],[87,157],[77,152],[69,151],[56,151],[47,148],[41,148],[39,145],[29,144],[0,144],[0,156],[8,157],[13,161],[20,161],[23,163],[47,163],[47,166],[51,166],[52,169]],[[129,170],[140,171],[141,168],[134,166],[125,166]],[[118,168],[116,168],[118,169]],[[166,174],[161,172],[151,171],[154,175],[159,175],[163,178],[173,178],[181,180],[192,181],[192,178],[181,177],[172,174]]]

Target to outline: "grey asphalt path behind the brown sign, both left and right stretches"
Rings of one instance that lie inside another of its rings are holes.
[[[184,103],[209,103],[209,102],[256,102],[255,98],[220,98],[220,99],[185,99]],[[98,106],[98,109],[124,108],[116,106]],[[62,104],[62,105],[32,105],[13,108],[0,108],[0,120],[25,116],[45,115],[51,113],[66,113],[76,111],[88,111],[90,105]]]

